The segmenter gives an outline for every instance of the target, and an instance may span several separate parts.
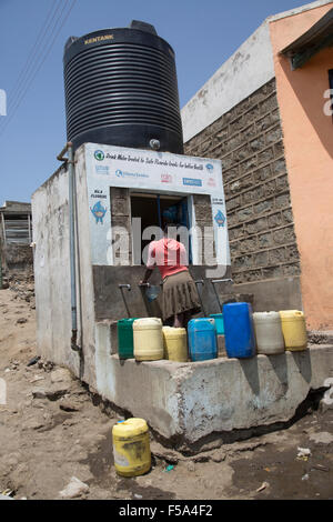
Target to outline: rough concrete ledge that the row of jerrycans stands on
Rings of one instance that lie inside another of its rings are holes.
[[[97,391],[141,416],[163,439],[193,444],[211,434],[287,422],[310,390],[333,378],[333,345],[205,362],[122,361],[95,350]]]

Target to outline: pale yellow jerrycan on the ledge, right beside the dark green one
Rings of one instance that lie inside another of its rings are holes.
[[[163,359],[161,319],[137,319],[133,322],[133,344],[137,361],[157,361]]]

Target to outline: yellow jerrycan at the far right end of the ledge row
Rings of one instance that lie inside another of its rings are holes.
[[[304,313],[299,310],[281,310],[280,317],[285,350],[292,352],[306,350],[307,335]]]

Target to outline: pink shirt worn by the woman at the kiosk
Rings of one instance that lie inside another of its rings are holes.
[[[186,249],[175,239],[162,238],[149,244],[147,268],[152,270],[157,265],[162,279],[188,270],[188,264]]]

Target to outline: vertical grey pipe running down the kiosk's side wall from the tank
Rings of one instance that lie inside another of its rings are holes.
[[[68,152],[68,158],[64,158]],[[77,303],[77,254],[75,254],[75,169],[74,169],[74,151],[73,145],[69,141],[60,154],[57,155],[59,161],[63,161],[68,165],[69,173],[69,219],[70,219],[70,278],[71,278],[71,318],[72,318],[72,335],[71,349],[75,352],[81,351],[78,347],[78,303]]]

